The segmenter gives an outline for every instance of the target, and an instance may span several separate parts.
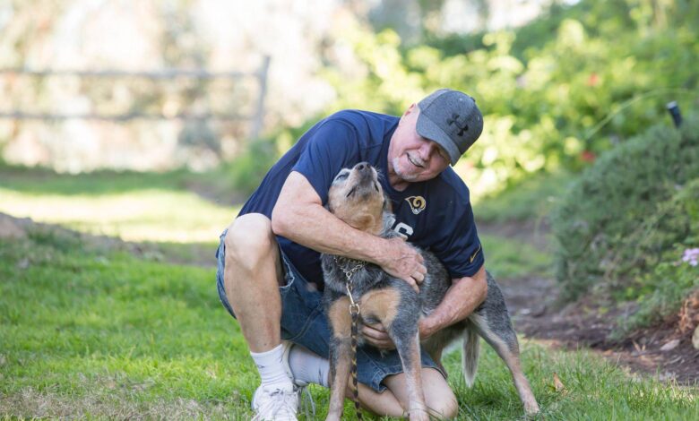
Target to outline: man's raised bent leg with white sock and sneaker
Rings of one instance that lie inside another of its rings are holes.
[[[253,396],[254,419],[296,420],[298,393],[282,362],[280,340],[283,275],[270,219],[237,218],[224,239],[223,283],[230,306],[262,378]]]

